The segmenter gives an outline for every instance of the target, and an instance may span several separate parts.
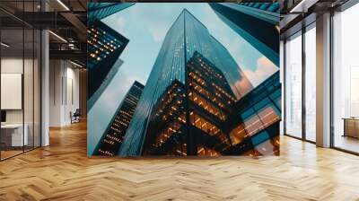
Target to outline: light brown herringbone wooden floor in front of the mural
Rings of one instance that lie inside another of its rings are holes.
[[[87,158],[86,127],[0,162],[0,200],[359,200],[359,157],[283,136],[259,159]]]

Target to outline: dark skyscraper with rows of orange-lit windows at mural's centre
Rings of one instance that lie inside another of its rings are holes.
[[[153,106],[143,154],[214,156],[231,146],[224,130],[236,99],[223,73],[197,51],[185,67],[186,82],[174,80]]]

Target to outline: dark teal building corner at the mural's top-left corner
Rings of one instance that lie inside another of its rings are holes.
[[[96,20],[101,20],[111,14],[118,13],[135,3],[88,3],[87,24],[91,25]]]

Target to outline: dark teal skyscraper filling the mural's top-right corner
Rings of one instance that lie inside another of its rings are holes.
[[[279,3],[210,3],[228,26],[279,66]]]

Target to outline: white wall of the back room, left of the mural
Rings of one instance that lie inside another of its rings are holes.
[[[66,60],[50,60],[49,66],[49,127],[62,127],[79,108],[79,70]]]

